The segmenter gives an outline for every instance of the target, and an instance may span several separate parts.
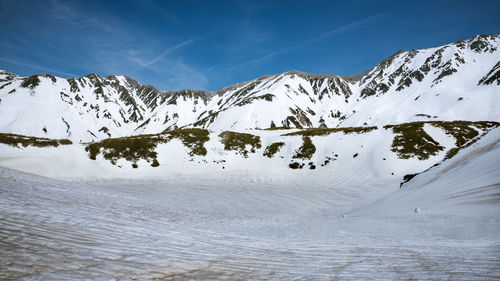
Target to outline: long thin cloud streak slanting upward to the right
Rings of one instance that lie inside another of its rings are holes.
[[[378,15],[375,15],[375,16],[370,16],[370,17],[367,17],[367,18],[363,18],[363,19],[360,19],[360,20],[357,20],[357,21],[350,22],[350,23],[348,23],[346,25],[342,25],[342,26],[339,26],[339,27],[337,27],[335,29],[323,32],[323,33],[321,33],[318,36],[314,36],[314,37],[308,38],[308,39],[304,40],[303,42],[297,43],[295,45],[291,45],[291,46],[288,46],[288,47],[285,47],[285,48],[281,48],[281,49],[278,49],[276,51],[270,52],[267,55],[264,55],[262,57],[259,57],[259,58],[253,59],[253,60],[249,60],[249,61],[237,64],[235,66],[229,67],[228,69],[226,69],[223,72],[233,71],[233,70],[238,69],[238,68],[240,68],[242,66],[246,66],[246,65],[251,65],[251,64],[254,64],[254,63],[263,62],[263,61],[266,61],[266,60],[268,60],[268,59],[270,59],[270,58],[272,58],[272,57],[274,57],[274,56],[276,56],[278,54],[287,52],[289,50],[296,49],[296,48],[302,47],[304,45],[307,45],[307,44],[310,44],[310,43],[313,43],[313,42],[325,40],[327,38],[330,38],[332,36],[335,36],[335,35],[338,35],[338,34],[341,34],[341,33],[345,33],[345,32],[356,30],[356,29],[358,29],[360,27],[363,27],[363,26],[366,26],[368,24],[380,21],[384,16],[385,16],[385,14],[378,14]]]

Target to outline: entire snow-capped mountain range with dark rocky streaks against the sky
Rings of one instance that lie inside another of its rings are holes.
[[[500,120],[500,35],[400,51],[353,76],[299,71],[215,92],[163,92],[126,76],[0,72],[0,132],[89,141],[179,127],[384,125]]]

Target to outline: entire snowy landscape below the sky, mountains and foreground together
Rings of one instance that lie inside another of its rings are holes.
[[[500,35],[217,91],[0,70],[1,280],[499,280]]]

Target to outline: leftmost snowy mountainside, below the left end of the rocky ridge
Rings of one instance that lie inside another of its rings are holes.
[[[200,91],[160,95],[153,87],[124,76],[63,79],[2,71],[0,83],[2,132],[76,141],[129,135],[159,105],[181,97],[195,102],[206,99]]]

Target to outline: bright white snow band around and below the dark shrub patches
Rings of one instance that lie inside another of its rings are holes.
[[[159,167],[141,159],[138,168],[131,161],[119,159],[116,165],[99,154],[96,160],[89,158],[86,144],[58,147],[26,148],[12,147],[0,143],[0,166],[21,170],[51,178],[176,178],[189,175],[203,175],[209,178],[244,176],[246,180],[273,178],[286,179],[290,184],[301,177],[324,179],[339,178],[354,185],[374,178],[401,180],[405,174],[421,172],[441,161],[448,150],[455,146],[455,139],[441,128],[424,126],[425,131],[443,149],[428,159],[416,157],[400,158],[391,151],[396,134],[390,129],[378,128],[360,134],[334,132],[325,136],[312,136],[316,152],[309,159],[297,159],[295,155],[303,144],[301,136],[284,136],[297,130],[251,130],[259,136],[261,147],[244,157],[240,152],[225,150],[218,132],[210,132],[210,140],[204,144],[207,155],[190,155],[188,147],[178,139],[158,144]],[[272,157],[264,156],[268,145],[283,142],[284,145]],[[290,163],[304,164],[299,170],[292,170]],[[315,169],[311,169],[311,164]],[[359,173],[361,170],[362,173]],[[272,173],[272,176],[271,176]],[[269,175],[269,176],[268,176]]]

